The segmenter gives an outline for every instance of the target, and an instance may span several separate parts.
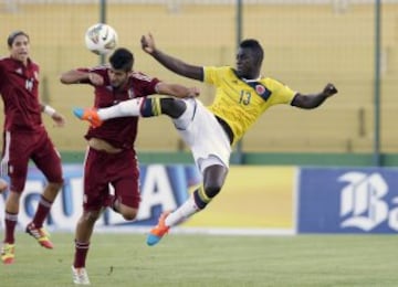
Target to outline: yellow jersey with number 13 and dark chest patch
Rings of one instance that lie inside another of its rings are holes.
[[[203,67],[203,82],[216,86],[214,100],[208,109],[232,129],[232,146],[271,106],[291,104],[295,92],[270,77],[245,81],[230,66]]]

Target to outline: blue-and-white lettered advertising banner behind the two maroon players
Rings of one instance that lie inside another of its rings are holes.
[[[52,228],[74,230],[82,214],[83,202],[83,167],[64,164],[64,188],[54,201],[46,225]],[[149,164],[140,167],[142,202],[137,219],[127,222],[118,213],[109,209],[97,221],[98,226],[154,225],[161,211],[175,210],[189,195],[189,190],[201,182],[196,166],[185,164]],[[45,178],[36,168],[29,169],[29,178],[21,194],[19,224],[25,226],[34,216],[41,193],[46,184]],[[113,189],[111,192],[113,193]],[[0,210],[4,210],[6,194],[0,194]],[[1,216],[1,214],[0,214]],[[0,225],[1,226],[1,225]]]

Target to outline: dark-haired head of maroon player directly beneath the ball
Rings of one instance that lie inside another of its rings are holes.
[[[134,55],[125,47],[118,47],[109,57],[111,68],[108,71],[111,85],[113,87],[123,86],[129,73],[133,71]]]

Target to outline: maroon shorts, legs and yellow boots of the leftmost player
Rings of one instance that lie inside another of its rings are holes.
[[[2,166],[4,170],[7,170],[6,172],[8,172],[9,166],[12,164],[13,173],[9,174],[11,183],[10,192],[6,201],[4,241],[1,249],[1,259],[4,264],[12,264],[14,262],[14,232],[18,223],[20,198],[24,190],[28,174],[28,161],[31,155],[30,149],[23,148],[24,146],[21,142],[32,142],[35,138],[27,138],[25,135],[7,136],[9,137],[9,144],[6,147],[6,151],[8,152],[9,158],[2,160]],[[33,220],[28,224],[25,231],[28,234],[32,235],[41,246],[51,249],[53,248],[53,244],[49,240],[49,235],[43,228],[43,224],[50,213],[51,205],[63,184],[61,159],[46,135],[38,134],[36,138],[40,148],[38,153],[33,153],[33,161],[44,173],[49,183],[44,188],[39,200]],[[13,147],[12,152],[10,152],[11,146]]]

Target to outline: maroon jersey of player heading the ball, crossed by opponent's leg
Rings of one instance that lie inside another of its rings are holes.
[[[109,84],[108,70],[108,66],[80,70],[100,74],[104,78],[104,84],[102,86],[94,86],[94,106],[96,108],[109,107],[127,99],[156,94],[155,86],[159,83],[159,79],[149,77],[139,72],[132,73],[124,89],[114,89]],[[101,127],[90,128],[85,138],[100,138],[106,140],[116,148],[133,149],[137,137],[137,126],[138,117],[113,118],[104,121]]]

